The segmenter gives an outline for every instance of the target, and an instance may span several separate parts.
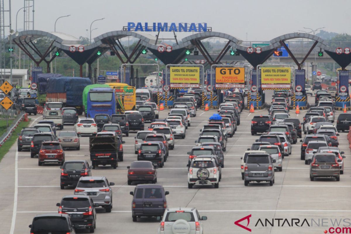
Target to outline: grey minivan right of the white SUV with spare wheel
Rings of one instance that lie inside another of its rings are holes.
[[[247,155],[244,167],[244,185],[249,185],[250,182],[267,181],[270,186],[274,183],[274,165],[275,159],[272,159],[270,154],[250,153]]]

